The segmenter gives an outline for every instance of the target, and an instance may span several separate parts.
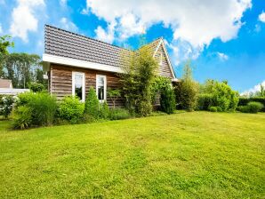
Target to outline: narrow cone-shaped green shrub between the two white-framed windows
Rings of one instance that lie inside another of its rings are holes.
[[[92,87],[90,87],[87,98],[85,100],[84,113],[87,115],[91,115],[95,119],[98,119],[99,110],[100,110],[100,101],[97,98],[95,90]]]

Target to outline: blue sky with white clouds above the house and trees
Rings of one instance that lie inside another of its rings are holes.
[[[176,76],[228,80],[239,92],[265,84],[265,0],[0,0],[11,52],[44,52],[44,24],[123,47],[163,36]]]

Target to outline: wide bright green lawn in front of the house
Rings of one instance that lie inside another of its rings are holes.
[[[265,114],[9,125],[0,122],[0,198],[265,197]]]

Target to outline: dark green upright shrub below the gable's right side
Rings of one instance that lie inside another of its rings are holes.
[[[167,114],[173,114],[176,109],[175,94],[171,87],[165,87],[161,91],[160,106],[161,110]]]

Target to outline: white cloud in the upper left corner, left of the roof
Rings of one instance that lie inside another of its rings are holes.
[[[44,6],[44,0],[18,0],[18,6],[12,10],[10,33],[28,42],[28,32],[36,32],[38,20],[35,9]]]

